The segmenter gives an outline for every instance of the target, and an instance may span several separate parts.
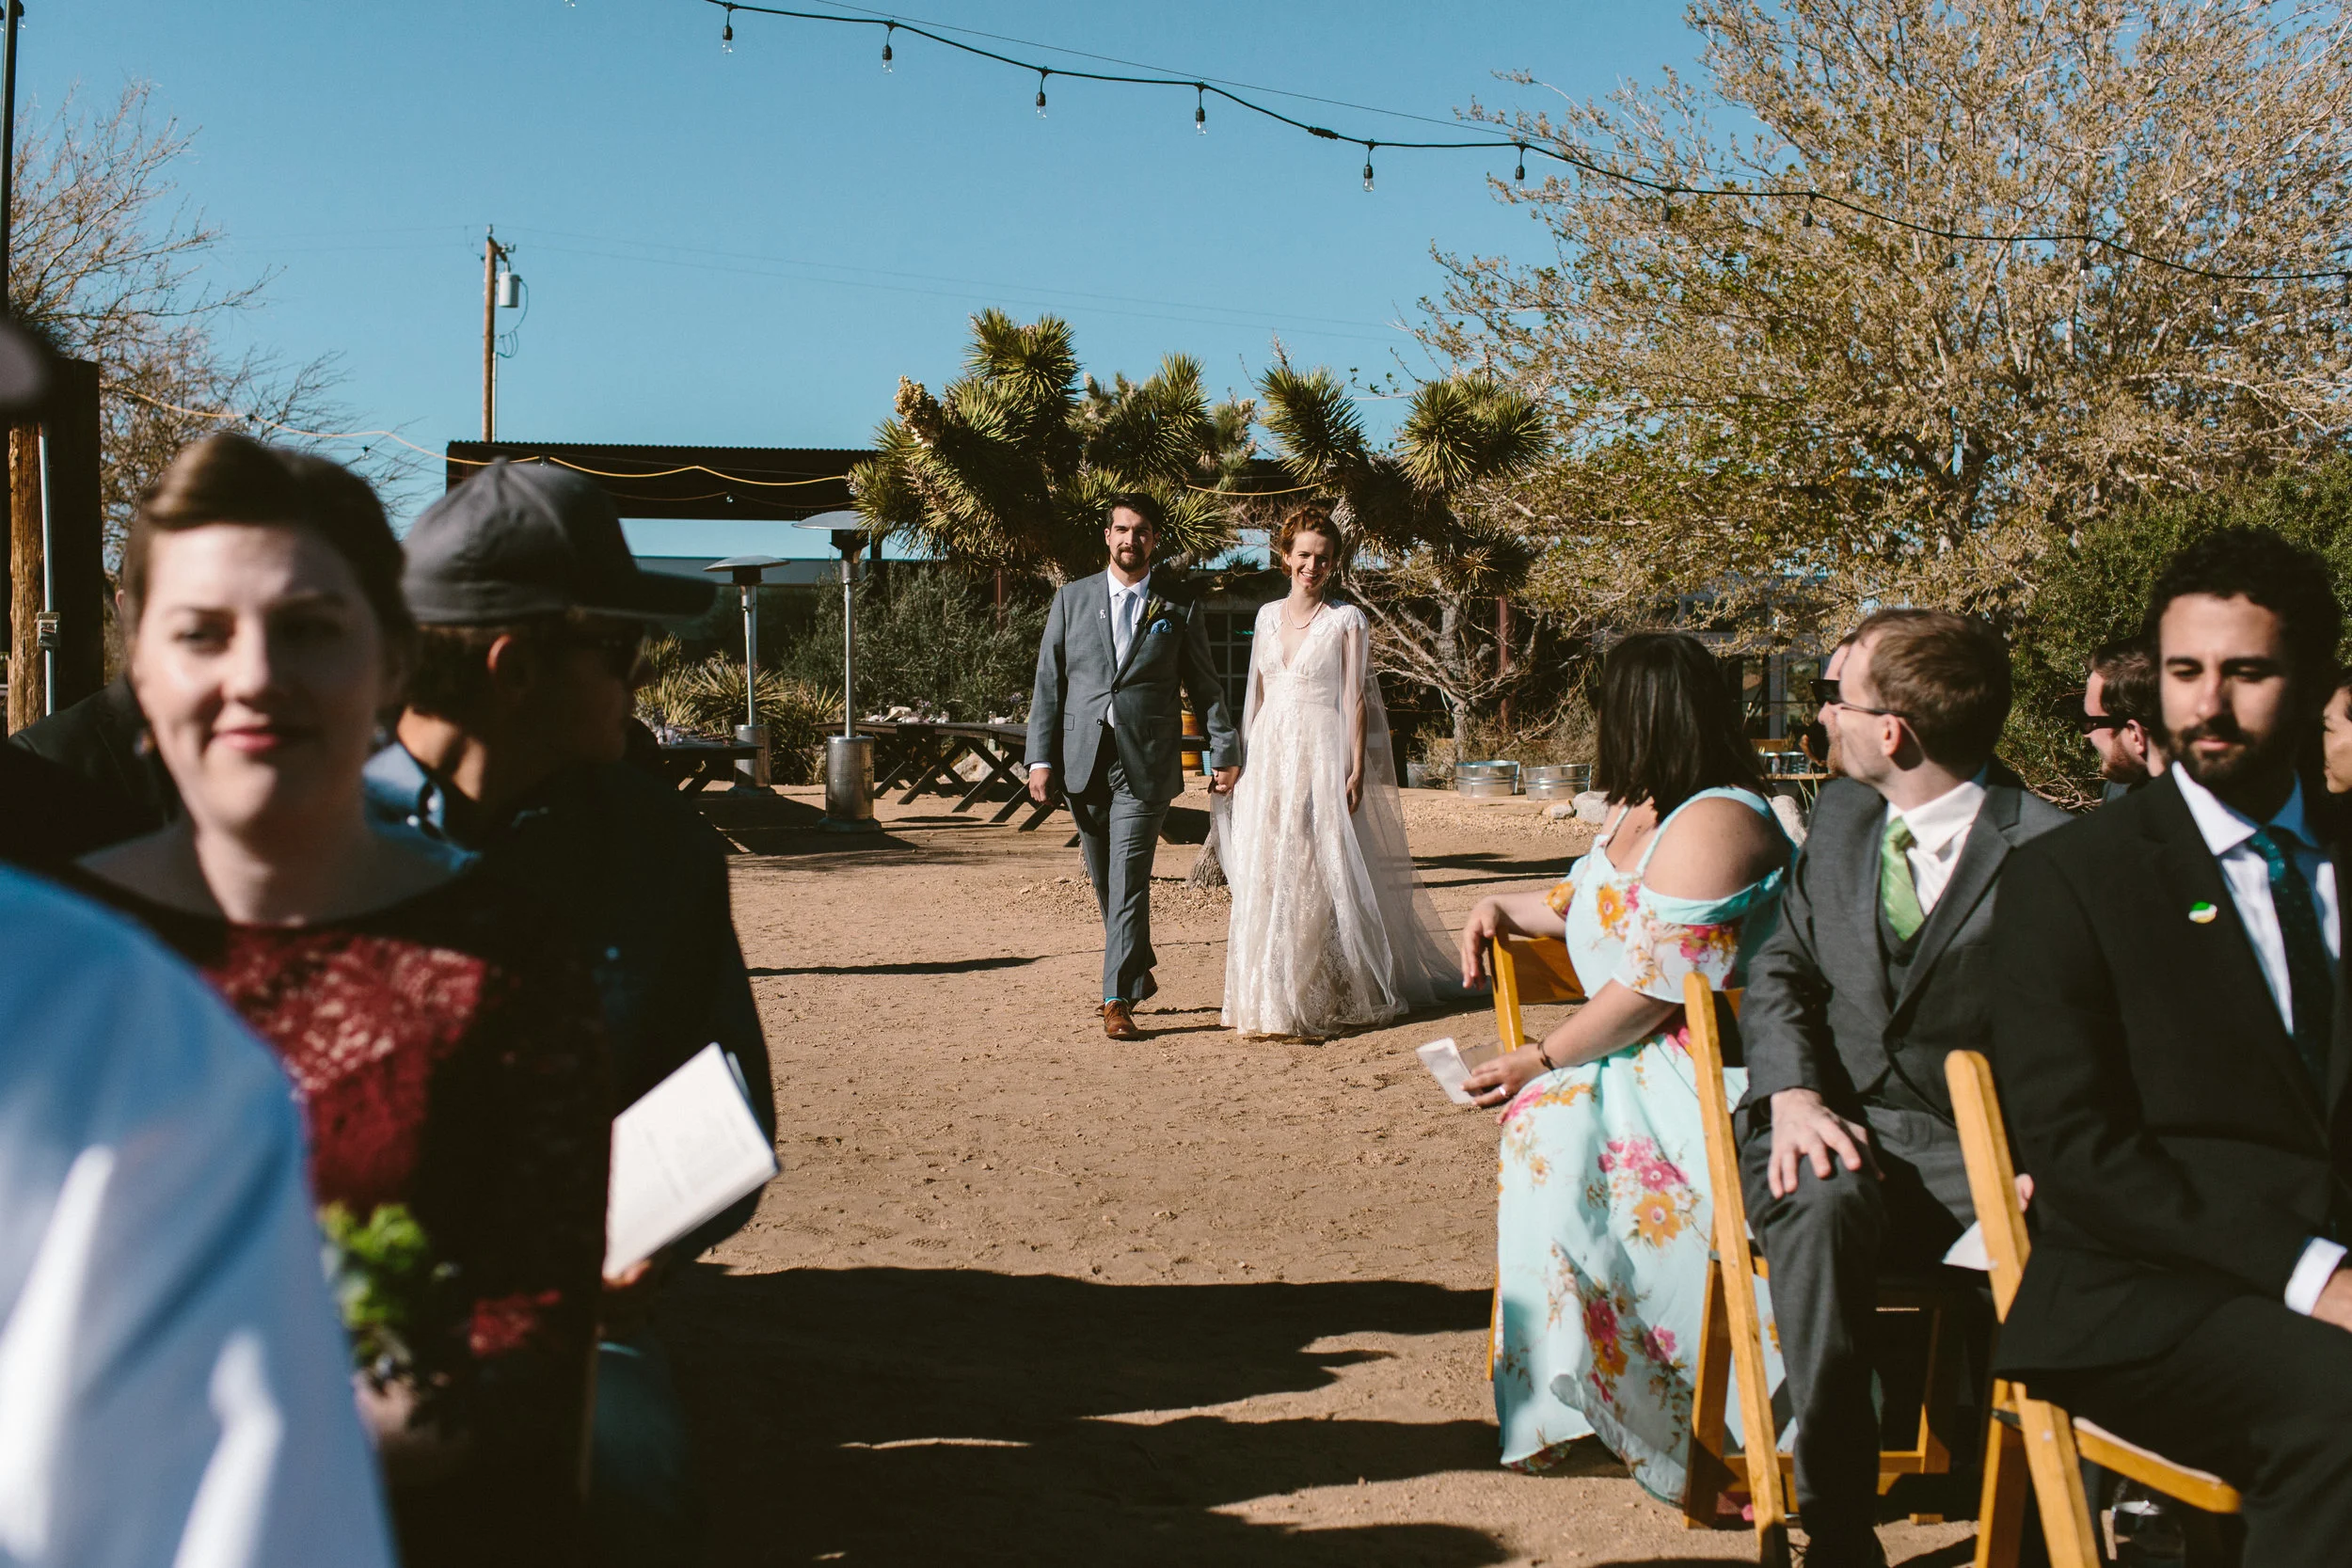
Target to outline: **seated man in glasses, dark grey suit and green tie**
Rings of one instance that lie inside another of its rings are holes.
[[[2009,651],[1983,621],[1886,609],[1856,630],[1780,924],[1748,966],[1740,1190],[1771,1260],[1809,1563],[1884,1563],[1870,1394],[1877,1276],[1976,1218],[1943,1081],[1992,1032],[1992,891],[2065,820],[1992,759]]]

